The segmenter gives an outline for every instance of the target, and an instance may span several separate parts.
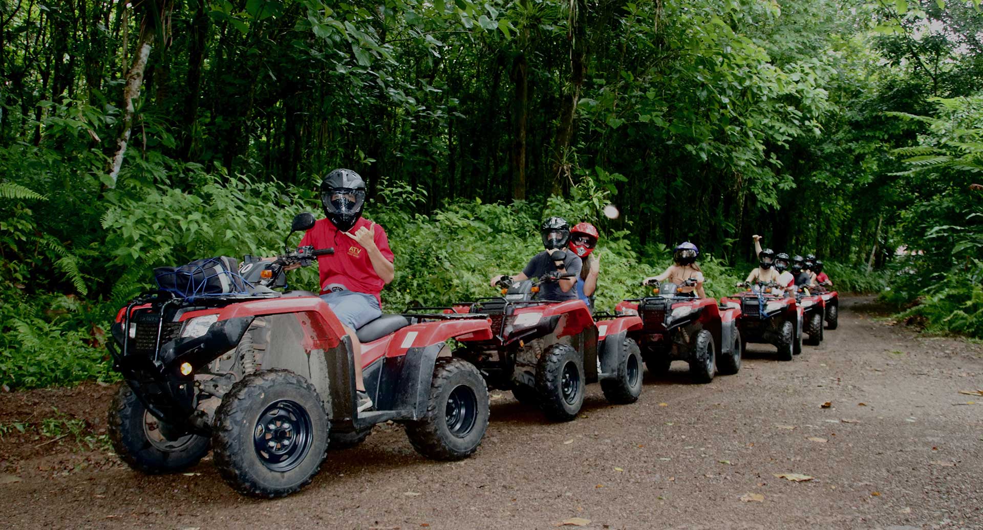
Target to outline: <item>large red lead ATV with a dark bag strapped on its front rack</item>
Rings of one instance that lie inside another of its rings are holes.
[[[291,234],[314,226],[294,219]],[[240,493],[282,497],[318,472],[325,450],[355,445],[376,423],[406,425],[413,447],[435,459],[478,449],[489,395],[478,369],[450,356],[450,339],[488,341],[484,315],[382,315],[357,334],[366,390],[358,412],[350,340],[328,305],[286,287],[284,268],[313,265],[331,249],[300,247],[275,261],[231,258],[162,271],[161,291],[139,296],[112,326],[123,374],[109,410],[116,452],[145,473],[196,464],[210,449]]]

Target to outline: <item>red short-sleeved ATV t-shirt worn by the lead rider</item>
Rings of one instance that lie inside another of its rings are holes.
[[[394,258],[392,250],[389,248],[389,238],[385,236],[382,227],[376,223],[359,218],[352,230],[348,231],[348,234],[354,235],[362,227],[368,230],[375,227],[376,246],[382,256],[392,262]],[[369,253],[358,241],[339,231],[331,221],[319,219],[314,224],[314,228],[307,231],[307,234],[301,239],[301,245],[306,244],[313,245],[315,249],[334,248],[333,254],[318,256],[321,292],[324,292],[324,286],[341,284],[349,291],[372,294],[379,300],[379,305],[382,304],[379,292],[382,291],[385,282],[376,274],[372,260],[369,259]]]

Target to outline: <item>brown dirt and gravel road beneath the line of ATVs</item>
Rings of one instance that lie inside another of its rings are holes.
[[[846,298],[822,345],[779,362],[774,347],[752,344],[739,374],[710,385],[689,384],[681,363],[648,378],[632,405],[610,406],[592,385],[570,423],[546,423],[495,392],[485,443],[461,462],[425,460],[400,427],[382,426],[357,449],[331,451],[309,488],[273,502],[234,494],[209,460],[190,475],[147,477],[80,449],[75,434],[8,433],[4,523],[548,529],[578,517],[596,529],[981,529],[983,397],[958,391],[983,389],[983,346],[917,336],[875,309]],[[45,410],[39,423],[55,402],[97,433],[110,393],[0,395],[0,425]]]

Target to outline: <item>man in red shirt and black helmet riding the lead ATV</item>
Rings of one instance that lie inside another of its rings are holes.
[[[382,227],[362,218],[366,183],[358,173],[336,169],[320,183],[326,219],[307,231],[301,245],[333,247],[318,257],[320,297],[345,327],[355,353],[355,388],[359,412],[372,408],[362,381],[362,343],[355,330],[382,315],[379,293],[395,275],[392,250]]]

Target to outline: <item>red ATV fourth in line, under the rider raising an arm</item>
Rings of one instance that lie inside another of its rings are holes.
[[[775,344],[780,360],[792,360],[802,352],[802,307],[774,282],[748,285],[733,296],[721,298],[726,307],[740,309],[737,327],[747,343]],[[744,349],[742,347],[741,349]]]

